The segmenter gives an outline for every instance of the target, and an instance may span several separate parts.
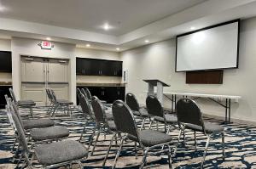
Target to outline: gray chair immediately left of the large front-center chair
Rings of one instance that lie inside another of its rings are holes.
[[[106,132],[113,133],[114,131],[116,131],[116,127],[115,127],[114,121],[108,121],[104,105],[102,104],[100,99],[98,99],[96,96],[93,96],[91,99],[91,105],[96,118],[96,127],[93,131],[92,138],[94,137],[96,130],[98,132],[96,136],[96,140],[94,142],[93,149],[91,150],[91,155],[93,155],[94,149],[96,147],[96,143],[98,142],[98,138],[100,134],[101,133],[106,134]],[[92,143],[92,139],[91,139],[91,143]]]

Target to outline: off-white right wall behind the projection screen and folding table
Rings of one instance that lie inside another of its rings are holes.
[[[218,85],[186,84],[185,73],[175,72],[175,39],[157,42],[121,53],[128,70],[126,92],[137,95],[144,104],[147,84],[143,79],[160,79],[171,84],[164,90],[189,93],[240,95],[232,104],[231,117],[256,121],[256,18],[241,22],[239,69],[224,70],[224,82]],[[205,99],[197,100],[204,113],[224,116],[224,108]],[[170,106],[171,102],[166,102]]]

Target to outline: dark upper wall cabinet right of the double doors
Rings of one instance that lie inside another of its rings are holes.
[[[77,58],[77,75],[122,76],[122,61]]]

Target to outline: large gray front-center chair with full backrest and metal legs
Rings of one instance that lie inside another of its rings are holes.
[[[140,168],[143,168],[146,164],[146,158],[149,155],[148,151],[154,149],[154,152],[150,153],[151,155],[166,152],[166,149],[155,152],[156,149],[160,147],[167,147],[169,167],[172,168],[172,149],[170,147],[172,136],[150,129],[141,131],[137,130],[137,125],[131,109],[121,100],[117,100],[113,103],[113,120],[116,125],[117,132],[121,137],[121,144],[119,145],[118,152],[115,156],[113,168],[116,166],[120,151],[124,141],[126,140],[137,142],[143,149],[143,161]],[[123,134],[121,135],[121,133]]]

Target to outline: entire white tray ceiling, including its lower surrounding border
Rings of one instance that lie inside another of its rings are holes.
[[[255,8],[256,0],[0,0],[0,38],[50,37],[120,52],[175,37],[191,26],[244,20],[256,16]],[[113,29],[101,28],[107,22]]]

